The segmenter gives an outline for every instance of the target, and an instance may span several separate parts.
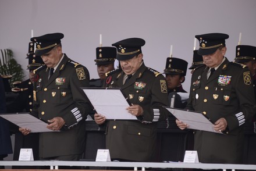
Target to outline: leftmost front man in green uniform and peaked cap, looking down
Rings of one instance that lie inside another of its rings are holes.
[[[80,87],[88,87],[86,67],[62,53],[62,33],[33,37],[35,55],[45,65],[38,67],[33,115],[48,122],[52,130],[40,133],[39,155],[42,160],[78,161],[84,151],[85,119],[90,105]],[[24,135],[30,130],[20,128]]]

